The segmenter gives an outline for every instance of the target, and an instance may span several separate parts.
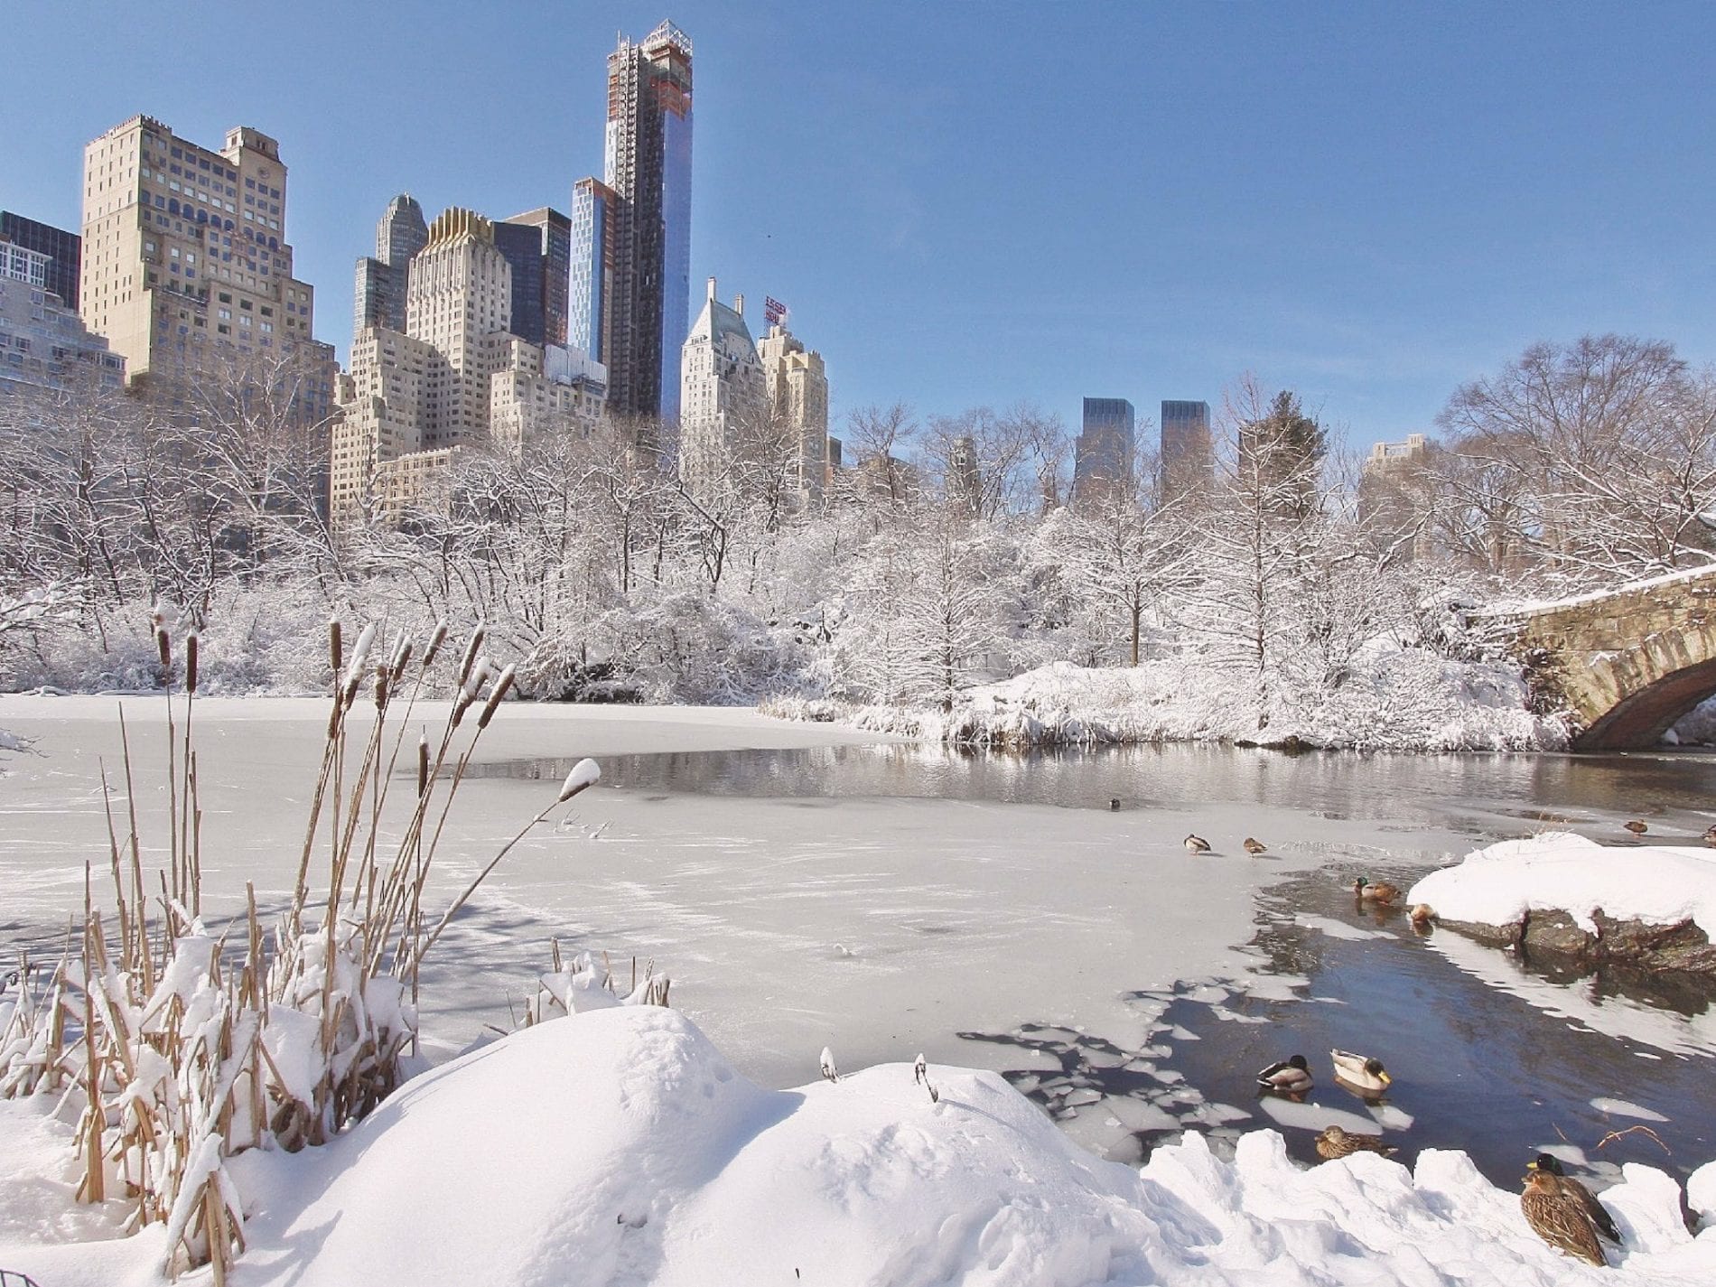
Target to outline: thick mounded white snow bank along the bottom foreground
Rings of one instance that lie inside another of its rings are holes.
[[[1599,1272],[1544,1246],[1517,1194],[1464,1153],[1424,1150],[1414,1170],[1375,1155],[1301,1170],[1258,1131],[1232,1162],[1187,1136],[1138,1170],[1078,1150],[995,1074],[932,1066],[930,1079],[935,1098],[909,1064],[765,1091],[674,1011],[556,1019],[412,1081],[326,1148],[235,1160],[251,1249],[232,1282],[1671,1287],[1716,1275],[1716,1230],[1689,1236],[1678,1187],[1649,1167],[1604,1193],[1632,1241]],[[1694,1179],[1706,1203],[1706,1172]],[[0,1263],[41,1282],[154,1282],[132,1263],[117,1272],[117,1249],[136,1242],[43,1248],[15,1232],[0,1225]]]

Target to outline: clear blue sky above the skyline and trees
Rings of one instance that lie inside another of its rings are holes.
[[[693,299],[788,302],[836,420],[1153,420],[1254,371],[1363,446],[1536,340],[1716,360],[1716,5],[10,0],[0,206],[76,228],[82,144],[137,112],[256,125],[343,352],[388,197],[566,209],[616,31],[664,15]]]

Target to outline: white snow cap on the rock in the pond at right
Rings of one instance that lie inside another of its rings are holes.
[[[1646,925],[1690,920],[1716,942],[1716,851],[1654,844],[1610,848],[1551,832],[1502,841],[1431,872],[1407,894],[1443,920],[1517,925],[1531,911],[1565,911],[1586,934],[1592,913]]]

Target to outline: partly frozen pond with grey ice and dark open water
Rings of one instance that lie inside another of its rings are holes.
[[[0,728],[36,740],[0,777],[7,956],[57,944],[82,904],[84,861],[106,861],[113,705],[0,698]],[[127,700],[156,848],[160,709]],[[235,908],[245,880],[264,904],[285,897],[323,726],[323,702],[199,705],[206,908]],[[1337,1110],[1385,1127],[1411,1119],[1409,1151],[1469,1148],[1498,1181],[1517,1175],[1527,1145],[1670,1169],[1716,1151],[1706,997],[1538,978],[1453,935],[1419,940],[1404,918],[1376,923],[1342,894],[1356,873],[1404,884],[1550,825],[1620,843],[1620,822],[1646,817],[1653,839],[1692,843],[1709,825],[1716,760],[1210,746],[987,757],[733,710],[515,705],[460,793],[438,897],[580,755],[602,762],[601,788],[510,855],[431,958],[436,1052],[508,1026],[559,939],[616,963],[654,958],[674,1002],[764,1083],[813,1079],[824,1045],[848,1069],[923,1050],[1006,1071],[1115,1157],[1187,1126],[1301,1127]],[[1186,855],[1187,831],[1217,853]],[[1270,858],[1244,855],[1248,834]],[[1330,1045],[1381,1055],[1399,1074],[1390,1103],[1373,1112],[1333,1090]],[[1318,1109],[1260,1103],[1251,1072],[1294,1048],[1330,1093],[1313,1095]],[[1596,1148],[1642,1124],[1671,1157],[1642,1133]],[[1289,1136],[1304,1155],[1309,1131]]]

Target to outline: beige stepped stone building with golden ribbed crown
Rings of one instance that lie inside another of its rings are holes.
[[[592,426],[606,371],[565,345],[510,331],[513,281],[494,225],[453,208],[410,259],[405,331],[364,326],[341,378],[329,506],[336,525],[362,513],[439,508],[462,446],[518,450],[549,424]]]

